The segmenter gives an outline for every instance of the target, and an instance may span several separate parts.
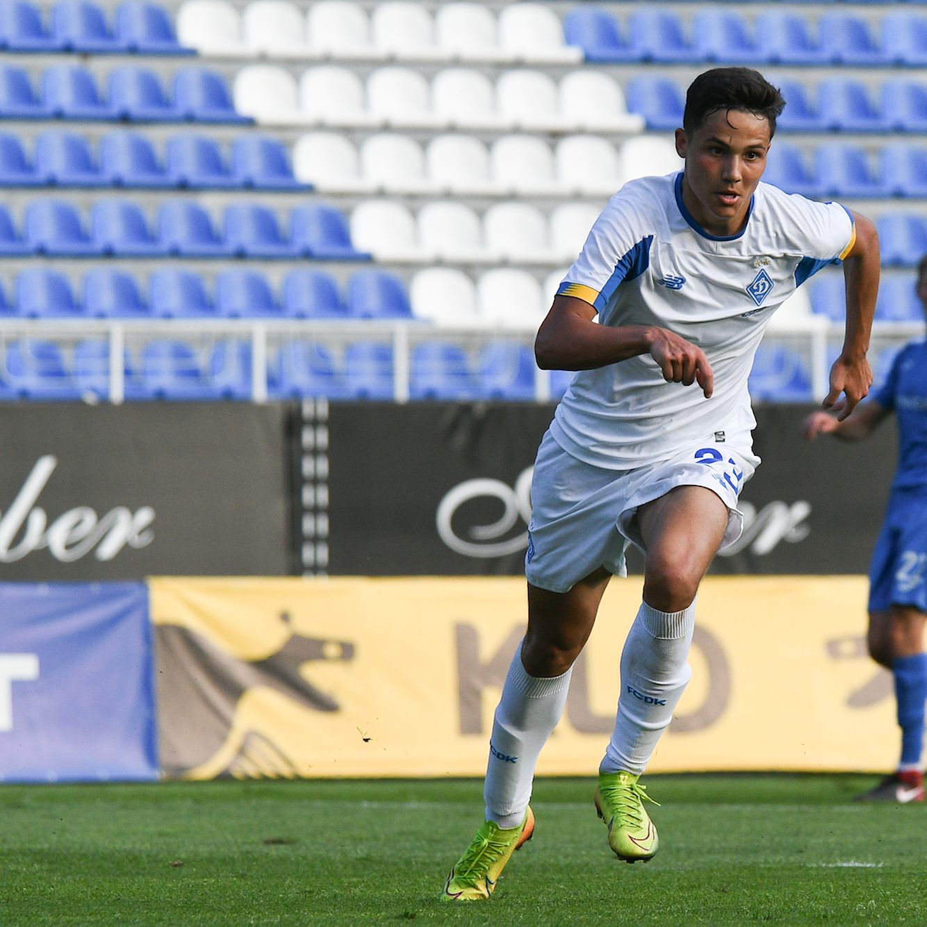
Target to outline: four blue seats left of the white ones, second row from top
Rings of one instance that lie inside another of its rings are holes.
[[[107,92],[80,65],[50,65],[42,72],[41,94],[29,72],[0,64],[0,119],[250,122],[235,112],[221,74],[185,67],[173,74],[171,94],[154,70],[121,65],[110,70]]]

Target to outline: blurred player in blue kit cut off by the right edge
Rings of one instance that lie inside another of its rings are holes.
[[[917,294],[927,314],[927,256],[918,266]],[[898,466],[882,533],[870,564],[870,656],[895,677],[895,701],[901,728],[898,768],[861,801],[907,804],[924,800],[924,705],[927,702],[927,341],[915,341],[895,362],[874,396],[838,422],[813,413],[806,438],[834,435],[869,438],[891,413],[898,422]]]

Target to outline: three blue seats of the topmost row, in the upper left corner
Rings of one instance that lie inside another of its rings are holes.
[[[0,49],[8,52],[106,52],[142,55],[192,55],[177,41],[167,11],[157,4],[128,0],[116,8],[112,23],[100,6],[86,0],[60,0],[50,22],[28,0],[0,5]]]

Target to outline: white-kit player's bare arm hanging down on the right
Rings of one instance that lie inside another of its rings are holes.
[[[831,368],[831,391],[821,403],[843,422],[872,386],[872,370],[866,358],[872,331],[872,315],[879,291],[879,236],[872,222],[858,212],[856,241],[844,258],[846,283],[846,330],[844,349]],[[843,399],[841,399],[843,395]]]

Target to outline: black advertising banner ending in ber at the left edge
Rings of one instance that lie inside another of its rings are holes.
[[[291,572],[286,405],[0,406],[0,579]]]

